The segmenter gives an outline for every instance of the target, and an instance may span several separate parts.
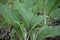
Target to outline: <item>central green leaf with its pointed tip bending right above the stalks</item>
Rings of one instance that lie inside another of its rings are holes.
[[[31,29],[30,29],[30,31],[33,29],[33,28],[35,28],[35,26],[36,25],[38,25],[39,23],[41,23],[43,20],[45,20],[47,18],[47,16],[46,15],[43,15],[43,16],[34,16],[34,17],[32,17],[32,19],[31,19],[31,22],[30,22],[30,24],[31,24]]]

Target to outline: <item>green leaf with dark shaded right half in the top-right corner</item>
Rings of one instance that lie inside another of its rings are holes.
[[[60,5],[60,0],[47,0],[46,10],[50,13],[52,10],[56,9]]]

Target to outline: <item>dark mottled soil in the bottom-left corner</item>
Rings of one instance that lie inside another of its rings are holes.
[[[10,31],[12,30],[12,26],[9,29],[4,28],[4,26],[0,26],[0,40],[10,40]]]

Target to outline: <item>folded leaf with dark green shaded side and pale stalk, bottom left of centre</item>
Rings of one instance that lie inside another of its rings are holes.
[[[23,24],[20,24],[19,22],[14,22],[14,28],[16,31],[20,34],[20,40],[24,40],[27,37],[27,31]]]

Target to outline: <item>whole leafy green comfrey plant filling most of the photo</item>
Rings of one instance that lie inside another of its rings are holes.
[[[44,40],[60,35],[60,0],[9,0],[0,13],[19,33],[20,40]]]

